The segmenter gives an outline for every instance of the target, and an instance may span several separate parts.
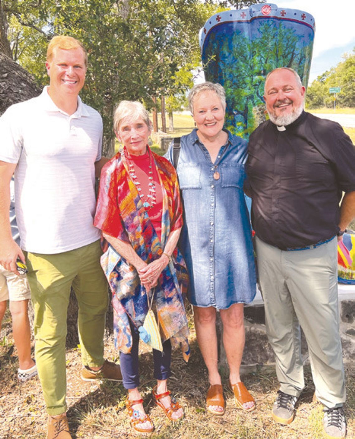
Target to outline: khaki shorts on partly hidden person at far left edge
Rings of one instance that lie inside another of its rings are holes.
[[[27,276],[18,276],[0,265],[0,302],[20,301],[31,298]]]

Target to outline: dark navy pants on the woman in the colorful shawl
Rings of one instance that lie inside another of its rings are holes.
[[[138,345],[139,332],[137,327],[130,321],[132,333],[132,349],[129,354],[120,352],[120,366],[125,389],[135,389],[139,386],[138,371]],[[154,378],[167,380],[170,377],[171,343],[167,340],[163,343],[163,352],[153,349]]]

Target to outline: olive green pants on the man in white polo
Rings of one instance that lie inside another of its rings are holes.
[[[70,287],[78,301],[78,330],[83,365],[101,366],[108,305],[99,241],[54,255],[27,254],[28,280],[35,311],[34,333],[38,375],[47,412],[64,413],[65,338]]]

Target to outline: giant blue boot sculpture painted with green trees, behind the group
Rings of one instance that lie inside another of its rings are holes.
[[[265,120],[264,80],[275,67],[291,67],[307,86],[315,22],[312,15],[275,4],[225,11],[200,32],[207,81],[226,91],[225,126],[249,138]]]

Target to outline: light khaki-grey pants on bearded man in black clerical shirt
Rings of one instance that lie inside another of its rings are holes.
[[[339,335],[337,239],[319,247],[282,251],[256,239],[266,330],[280,390],[304,388],[300,324],[308,343],[315,395],[326,407],[345,402]]]

